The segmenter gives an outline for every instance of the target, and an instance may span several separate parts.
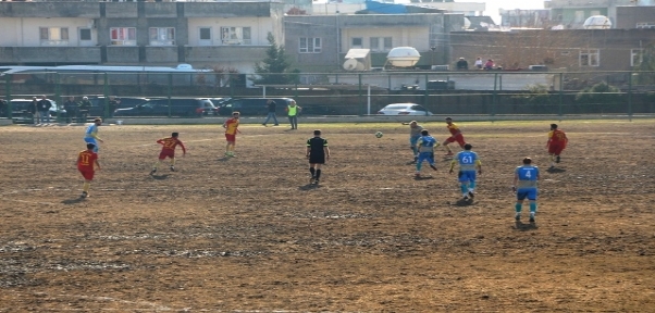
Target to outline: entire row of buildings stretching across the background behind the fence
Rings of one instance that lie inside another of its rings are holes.
[[[302,72],[343,71],[354,48],[370,49],[372,66],[382,67],[394,47],[416,48],[423,68],[480,57],[511,70],[625,71],[655,42],[648,28],[466,32],[459,13],[288,15],[288,8],[276,1],[0,2],[0,64],[189,63],[252,73],[271,33]],[[618,16],[634,24],[634,16],[655,16],[655,7],[618,7]]]

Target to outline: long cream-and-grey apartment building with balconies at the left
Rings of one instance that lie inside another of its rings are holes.
[[[251,73],[281,2],[0,2],[0,64],[140,64]]]

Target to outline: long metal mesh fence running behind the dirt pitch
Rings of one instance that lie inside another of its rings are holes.
[[[0,98],[45,95],[59,105],[67,97],[293,98],[304,114],[375,114],[390,103],[412,102],[434,114],[655,113],[655,72],[361,72],[300,73],[254,85],[236,73],[27,73],[0,77]],[[286,84],[284,84],[286,82]],[[292,83],[288,83],[292,82]],[[8,101],[1,114],[15,112]],[[169,117],[175,117],[171,114]],[[63,116],[60,116],[62,118]]]

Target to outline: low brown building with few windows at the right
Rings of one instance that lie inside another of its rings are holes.
[[[461,32],[453,33],[450,42],[452,55],[492,59],[504,70],[630,71],[655,42],[655,29]]]

